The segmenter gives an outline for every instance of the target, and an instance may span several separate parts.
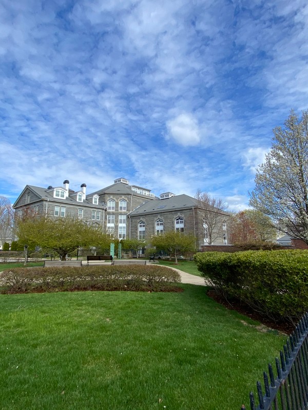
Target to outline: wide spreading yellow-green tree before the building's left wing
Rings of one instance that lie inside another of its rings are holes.
[[[62,260],[80,246],[96,246],[107,241],[100,228],[69,216],[58,219],[45,216],[17,219],[16,236],[18,243],[52,249]]]

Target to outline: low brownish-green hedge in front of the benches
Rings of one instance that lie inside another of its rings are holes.
[[[0,293],[63,291],[167,292],[180,274],[160,266],[15,268],[0,276]]]

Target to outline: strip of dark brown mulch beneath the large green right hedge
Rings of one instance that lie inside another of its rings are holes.
[[[295,329],[295,326],[292,325],[292,323],[276,322],[269,318],[266,318],[262,316],[260,313],[255,312],[250,306],[246,305],[240,300],[226,300],[223,296],[219,295],[215,290],[209,290],[207,292],[207,296],[211,299],[214,299],[216,302],[222,304],[223,306],[225,306],[225,308],[241,313],[242,315],[248,316],[253,320],[257,320],[258,322],[261,322],[264,326],[277,330],[278,332],[290,335]]]

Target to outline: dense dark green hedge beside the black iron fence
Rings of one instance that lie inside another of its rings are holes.
[[[274,320],[296,323],[308,310],[308,252],[246,251],[195,255],[202,276]]]

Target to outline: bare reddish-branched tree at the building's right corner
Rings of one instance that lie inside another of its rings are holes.
[[[210,245],[223,234],[222,224],[229,215],[225,212],[226,203],[221,198],[213,198],[207,192],[197,190],[195,198],[198,201],[205,239]]]

